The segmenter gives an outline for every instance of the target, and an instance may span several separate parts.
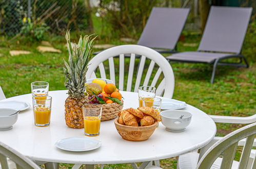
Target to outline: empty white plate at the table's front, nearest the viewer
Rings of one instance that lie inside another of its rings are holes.
[[[55,146],[62,150],[72,152],[90,151],[99,148],[102,145],[100,140],[84,137],[69,137],[60,139],[55,143]]]

